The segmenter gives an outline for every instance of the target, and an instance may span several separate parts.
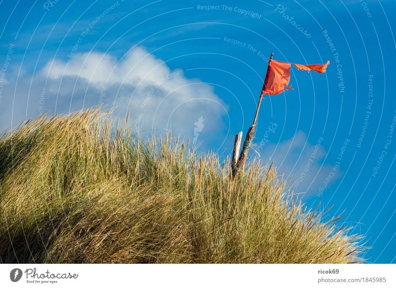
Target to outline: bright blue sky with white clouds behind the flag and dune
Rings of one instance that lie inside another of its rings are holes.
[[[207,7],[211,5],[210,7]],[[210,9],[209,9],[210,8]],[[292,68],[267,96],[250,159],[274,161],[309,206],[333,207],[396,263],[393,0],[0,1],[0,129],[44,111],[131,110],[142,135],[172,130],[224,158],[246,132],[267,60]]]

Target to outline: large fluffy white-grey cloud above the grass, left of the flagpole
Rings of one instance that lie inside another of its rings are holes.
[[[13,99],[0,108],[14,112],[3,113],[1,128],[11,126],[10,119],[15,126],[43,110],[67,113],[104,104],[113,107],[116,116],[130,110],[141,133],[172,130],[193,138],[198,119],[204,119],[200,133],[208,136],[222,129],[221,117],[227,112],[212,86],[171,70],[142,47],[121,59],[94,51],[68,61],[53,59],[34,76],[14,80],[8,89]]]

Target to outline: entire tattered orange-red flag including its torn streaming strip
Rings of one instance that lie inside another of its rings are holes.
[[[294,64],[297,69],[310,71],[313,70],[318,73],[326,72],[327,65],[330,64],[330,61],[327,61],[326,64]],[[264,85],[262,89],[262,94],[266,95],[277,95],[282,93],[283,91],[292,89],[292,86],[286,87],[290,82],[290,67],[292,63],[281,62],[272,60],[268,65],[267,74],[265,75]],[[285,88],[286,87],[286,88]]]

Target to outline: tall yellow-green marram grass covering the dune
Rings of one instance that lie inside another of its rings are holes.
[[[123,126],[124,127],[124,126]],[[293,201],[275,170],[139,140],[99,110],[0,139],[2,263],[353,263],[359,237]]]

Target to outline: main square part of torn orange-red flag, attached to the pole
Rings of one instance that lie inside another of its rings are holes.
[[[286,87],[290,82],[291,63],[272,60],[268,64],[267,74],[265,75],[263,94],[276,95],[289,90],[292,86]],[[286,88],[285,88],[286,87]]]

